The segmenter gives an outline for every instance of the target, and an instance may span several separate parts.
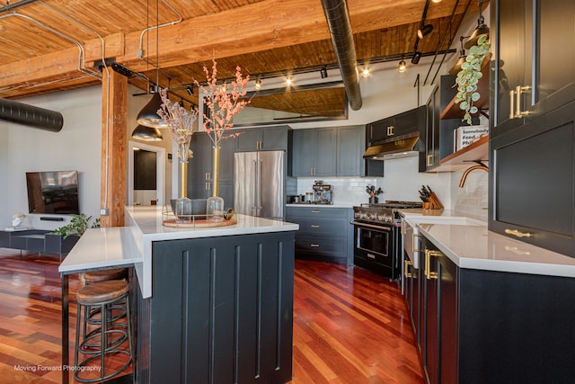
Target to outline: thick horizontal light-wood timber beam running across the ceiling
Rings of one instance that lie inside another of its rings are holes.
[[[453,4],[454,0],[444,0],[434,5],[433,12],[447,17]],[[224,4],[217,6],[223,7]],[[422,1],[386,0],[382,3],[350,0],[349,13],[354,32],[371,31],[405,22],[419,22]],[[161,67],[182,66],[211,58],[229,58],[330,39],[320,2],[309,0],[263,0],[184,20],[161,28],[158,33]],[[122,38],[120,35],[106,38],[106,56],[115,56],[120,63],[134,71],[149,70],[146,61],[137,57],[140,31],[130,31],[121,35]],[[155,33],[150,33],[146,45],[150,47],[148,57],[155,57]],[[99,40],[90,40],[85,46],[89,60],[101,58]],[[0,73],[3,73],[0,89],[26,82],[41,82],[56,76],[74,76],[77,74],[76,62],[77,49],[62,49],[0,66]]]

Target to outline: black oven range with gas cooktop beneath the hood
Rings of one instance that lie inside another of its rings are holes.
[[[385,201],[353,207],[353,262],[395,280],[400,273],[401,231],[398,210],[421,208],[418,201]]]

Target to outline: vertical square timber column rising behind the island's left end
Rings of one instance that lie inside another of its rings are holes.
[[[102,71],[102,227],[122,227],[126,205],[126,127],[128,120],[128,78]]]

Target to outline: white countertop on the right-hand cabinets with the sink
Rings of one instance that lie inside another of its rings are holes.
[[[449,210],[402,210],[420,233],[460,268],[575,277],[575,258],[505,237],[472,218],[475,225],[449,224],[465,218]],[[423,223],[428,216],[434,223]],[[476,222],[477,221],[477,222]],[[477,225],[479,224],[479,225]]]

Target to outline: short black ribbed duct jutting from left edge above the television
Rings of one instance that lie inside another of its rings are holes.
[[[64,125],[62,113],[0,98],[0,121],[59,132]]]

